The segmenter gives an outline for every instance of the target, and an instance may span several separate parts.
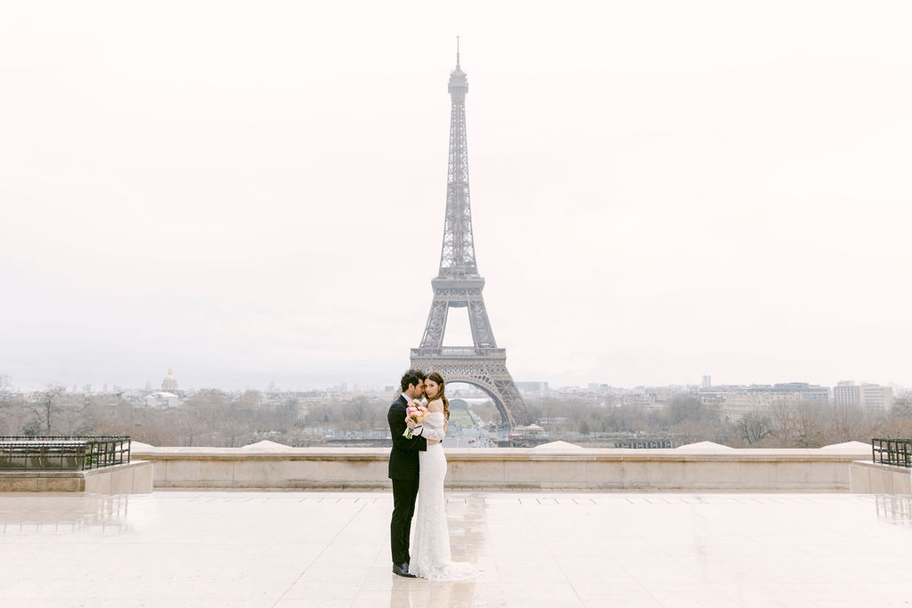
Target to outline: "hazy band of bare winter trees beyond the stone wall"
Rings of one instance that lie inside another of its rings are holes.
[[[314,445],[322,430],[384,431],[389,398],[314,394],[265,395],[205,390],[180,407],[144,407],[122,396],[70,395],[48,385],[12,395],[0,376],[0,435],[129,435],[154,446],[241,447],[262,439]],[[611,407],[584,398],[527,400],[552,440],[609,446],[618,438],[669,438],[677,443],[713,441],[731,447],[819,448],[872,437],[912,437],[912,394],[896,398],[889,412],[795,400],[749,412],[737,420],[691,396],[658,407]],[[501,424],[490,402],[472,411],[494,430]],[[315,429],[322,429],[316,432]]]

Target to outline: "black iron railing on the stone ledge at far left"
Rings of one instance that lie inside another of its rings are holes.
[[[86,470],[128,462],[127,436],[0,436],[0,470]]]

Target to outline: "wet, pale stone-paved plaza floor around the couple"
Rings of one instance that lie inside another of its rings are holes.
[[[469,582],[390,572],[386,492],[0,496],[0,605],[912,606],[912,497],[448,495]]]

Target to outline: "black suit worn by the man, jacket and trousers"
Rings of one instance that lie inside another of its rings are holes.
[[[428,440],[420,435],[404,438],[405,397],[399,396],[389,406],[387,422],[393,438],[389,451],[389,479],[393,480],[393,517],[389,521],[389,545],[393,563],[409,562],[409,532],[411,517],[415,514],[415,498],[418,496],[418,453],[428,449]]]

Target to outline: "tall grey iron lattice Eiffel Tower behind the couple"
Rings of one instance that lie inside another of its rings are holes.
[[[465,94],[469,81],[460,66],[450,73],[450,164],[447,170],[447,209],[443,221],[440,273],[431,280],[434,299],[421,345],[411,349],[411,366],[437,370],[447,382],[478,386],[489,396],[510,428],[531,424],[533,417],[507,371],[507,351],[498,348],[484,308],[484,279],[475,263],[472,209],[469,206],[469,150],[465,133]],[[474,345],[443,346],[447,314],[451,308],[468,308]]]

